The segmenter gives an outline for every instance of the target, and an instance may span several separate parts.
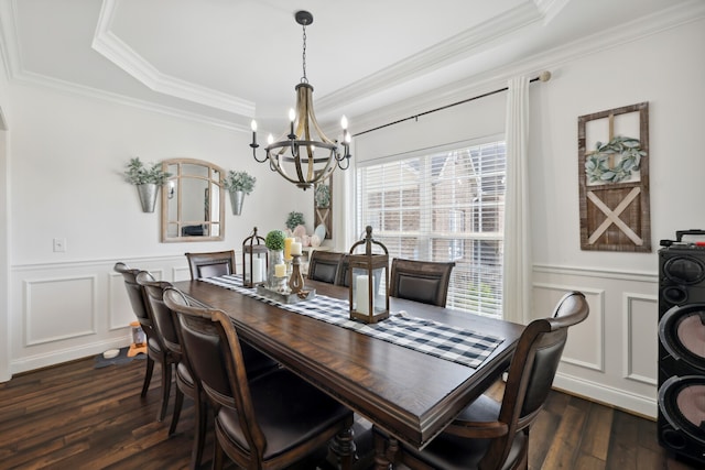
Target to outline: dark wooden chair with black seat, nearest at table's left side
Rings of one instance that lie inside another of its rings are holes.
[[[164,303],[178,315],[188,361],[214,409],[214,469],[223,468],[225,455],[245,469],[282,469],[336,435],[351,438],[352,413],[296,374],[280,368],[248,378],[225,313],[188,306],[175,288],[164,292]],[[350,457],[343,456],[346,466]]]

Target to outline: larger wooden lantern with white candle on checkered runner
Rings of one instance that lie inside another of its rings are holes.
[[[365,230],[365,240],[350,248],[350,319],[376,324],[389,318],[389,252],[382,243],[372,240],[370,226]],[[365,253],[355,254],[361,244]],[[384,253],[372,253],[372,244]]]

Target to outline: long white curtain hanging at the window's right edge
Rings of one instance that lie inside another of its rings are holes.
[[[531,227],[529,214],[529,79],[509,80],[507,94],[507,192],[502,316],[531,319]]]

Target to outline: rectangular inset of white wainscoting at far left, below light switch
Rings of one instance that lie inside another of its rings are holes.
[[[96,277],[54,277],[24,283],[24,345],[95,335]]]

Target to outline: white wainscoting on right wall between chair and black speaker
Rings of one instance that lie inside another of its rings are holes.
[[[551,311],[568,291],[583,292],[588,319],[571,328],[556,389],[655,417],[659,275],[534,265],[534,309]]]

